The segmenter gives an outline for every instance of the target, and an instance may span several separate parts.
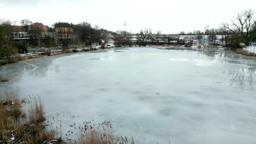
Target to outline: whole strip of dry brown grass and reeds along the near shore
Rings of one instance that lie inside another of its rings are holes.
[[[45,122],[44,115],[43,101],[40,97],[20,100],[16,93],[4,92],[0,95],[0,143],[135,143],[133,139],[115,136],[113,125],[109,121],[98,124],[89,121],[84,122],[83,126],[71,124],[70,130],[61,134],[61,130]],[[69,137],[77,138],[74,140]]]

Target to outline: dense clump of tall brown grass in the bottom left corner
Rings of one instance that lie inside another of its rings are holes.
[[[45,129],[48,125],[43,124],[43,101],[39,97],[22,100],[29,107],[27,113],[22,111],[16,93],[5,92],[0,95],[0,102],[1,143],[62,143],[54,130]]]

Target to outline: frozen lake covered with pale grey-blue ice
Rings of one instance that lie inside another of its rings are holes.
[[[10,80],[1,92],[40,95],[63,133],[95,119],[136,143],[256,143],[256,59],[230,51],[71,53],[4,65],[0,76]]]

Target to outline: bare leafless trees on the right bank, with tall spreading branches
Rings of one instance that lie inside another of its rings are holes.
[[[217,35],[221,35],[221,40],[226,47],[240,48],[241,43],[246,46],[250,45],[252,41],[256,41],[256,19],[254,17],[255,11],[248,9],[237,14],[234,20],[230,23],[222,23],[219,28],[205,28],[204,32],[181,32],[181,35],[196,35],[197,39],[202,40],[203,35],[208,35],[208,43],[215,45]]]

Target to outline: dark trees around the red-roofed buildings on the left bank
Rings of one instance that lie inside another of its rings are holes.
[[[21,20],[18,27],[10,20],[0,19],[0,58],[26,53],[27,47],[77,47],[90,46],[92,43],[103,45],[108,33],[88,22],[78,24],[56,22],[48,31],[30,20]],[[21,29],[20,29],[21,28]],[[19,37],[17,37],[19,35]],[[21,35],[21,36],[20,36]]]

